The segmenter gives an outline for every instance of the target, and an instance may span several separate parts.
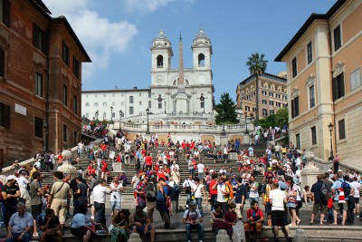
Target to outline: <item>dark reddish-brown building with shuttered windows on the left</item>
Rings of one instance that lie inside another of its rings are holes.
[[[0,165],[81,140],[81,63],[65,17],[41,0],[0,1]]]

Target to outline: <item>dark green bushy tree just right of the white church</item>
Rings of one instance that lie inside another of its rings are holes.
[[[215,121],[217,124],[225,123],[238,123],[236,113],[236,105],[230,97],[229,92],[224,92],[221,95],[220,103],[215,106],[215,110],[217,111],[217,115],[215,117]]]

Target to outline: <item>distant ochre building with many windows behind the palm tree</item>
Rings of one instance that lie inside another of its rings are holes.
[[[287,80],[284,75],[285,73],[264,73],[259,77],[259,117],[267,117],[288,106]],[[240,82],[236,88],[236,110],[240,118],[243,118],[245,111],[248,117],[255,117],[255,86],[256,77],[252,75]]]

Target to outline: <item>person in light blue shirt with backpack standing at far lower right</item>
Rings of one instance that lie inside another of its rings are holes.
[[[346,202],[346,198],[348,198],[348,186],[349,184],[345,182],[343,179],[343,170],[339,169],[337,172],[337,180],[333,183],[331,188],[332,196],[333,196],[333,215],[334,215],[334,223],[333,225],[338,225],[337,218],[338,218],[338,210],[343,209],[343,218],[342,218],[342,225],[346,224],[347,220],[347,210],[348,210],[348,203]],[[349,186],[350,192],[350,186]]]

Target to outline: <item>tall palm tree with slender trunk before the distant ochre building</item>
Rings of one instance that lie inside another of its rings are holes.
[[[255,123],[256,126],[259,126],[259,76],[262,73],[265,73],[266,66],[268,61],[264,60],[265,54],[259,53],[252,53],[251,56],[248,57],[248,62],[246,65],[249,67],[249,72],[251,75],[256,77],[256,84],[255,84],[255,106],[256,106],[256,116],[255,116]]]

